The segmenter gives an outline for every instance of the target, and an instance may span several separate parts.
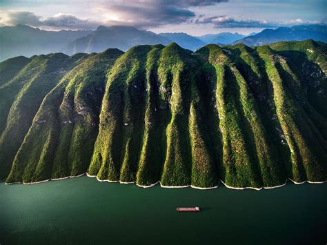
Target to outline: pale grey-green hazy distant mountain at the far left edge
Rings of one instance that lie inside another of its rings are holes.
[[[48,54],[59,52],[63,46],[79,37],[88,35],[91,30],[61,30],[59,32],[40,30],[30,26],[0,27],[0,61],[23,55]]]

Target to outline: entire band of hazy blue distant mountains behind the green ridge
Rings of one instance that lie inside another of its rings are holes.
[[[188,50],[197,50],[209,43],[219,45],[244,43],[260,46],[277,41],[314,39],[327,41],[326,26],[293,26],[292,28],[265,29],[255,35],[245,37],[239,33],[222,32],[193,37],[186,33],[160,33],[139,30],[128,26],[99,26],[97,30],[61,30],[59,32],[40,30],[30,26],[0,27],[0,61],[23,55],[63,52],[73,55],[78,52],[102,52],[107,48],[126,51],[143,44],[163,44],[175,42]]]

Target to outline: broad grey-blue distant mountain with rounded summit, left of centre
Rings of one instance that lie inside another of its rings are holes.
[[[107,48],[118,48],[126,51],[141,44],[167,45],[168,43],[171,41],[166,37],[130,26],[99,26],[89,35],[72,41],[61,51],[68,55],[77,52],[101,52]]]

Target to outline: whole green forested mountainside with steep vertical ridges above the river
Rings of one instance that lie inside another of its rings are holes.
[[[327,180],[326,43],[0,63],[0,178],[237,188]]]

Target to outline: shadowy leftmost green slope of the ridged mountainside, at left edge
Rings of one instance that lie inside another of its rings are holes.
[[[10,61],[13,65],[1,71],[5,75],[8,71],[10,77],[0,87],[0,179],[8,175],[43,98],[83,56],[68,57],[57,53],[30,59],[17,57],[3,62]]]

